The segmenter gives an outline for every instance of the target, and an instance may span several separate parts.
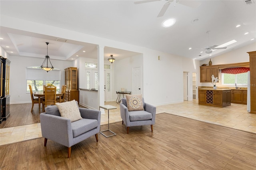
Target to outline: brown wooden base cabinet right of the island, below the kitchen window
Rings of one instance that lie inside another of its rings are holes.
[[[232,89],[231,90],[231,103],[247,104],[247,90]]]

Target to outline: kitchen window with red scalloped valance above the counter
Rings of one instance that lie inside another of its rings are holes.
[[[222,84],[223,85],[247,85],[248,74],[250,71],[248,67],[236,67],[221,69]]]

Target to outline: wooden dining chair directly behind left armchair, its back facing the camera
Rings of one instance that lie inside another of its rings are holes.
[[[48,105],[55,105],[56,103],[56,87],[51,85],[51,86],[46,86],[44,89],[44,99],[42,101],[43,104],[43,111],[45,107]]]

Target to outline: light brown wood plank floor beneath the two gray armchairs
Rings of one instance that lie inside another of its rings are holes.
[[[107,125],[101,126],[101,130]],[[44,138],[0,146],[0,169],[256,169],[256,134],[176,115],[156,115],[150,126],[110,124],[116,136],[92,136],[67,148]]]

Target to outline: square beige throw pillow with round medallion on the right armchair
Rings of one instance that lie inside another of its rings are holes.
[[[144,111],[142,95],[126,95],[128,111]]]

